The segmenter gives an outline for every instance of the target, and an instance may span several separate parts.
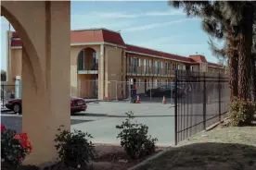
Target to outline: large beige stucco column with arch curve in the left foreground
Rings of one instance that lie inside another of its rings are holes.
[[[14,60],[22,63],[22,131],[33,147],[24,164],[54,162],[57,129],[70,129],[70,2],[4,1],[1,9],[23,42],[22,62]]]

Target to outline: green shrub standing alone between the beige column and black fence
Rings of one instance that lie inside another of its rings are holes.
[[[116,128],[121,129],[117,138],[121,139],[124,151],[133,159],[145,157],[155,152],[157,139],[151,139],[151,136],[147,136],[148,127],[133,123],[134,114],[132,112],[126,113],[126,115],[128,118],[122,122],[122,125],[116,126]]]

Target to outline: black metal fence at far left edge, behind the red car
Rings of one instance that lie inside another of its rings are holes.
[[[1,84],[1,106],[4,107],[6,102],[15,98],[15,85]]]

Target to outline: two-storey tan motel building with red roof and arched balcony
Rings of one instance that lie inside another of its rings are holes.
[[[17,32],[10,34],[7,83],[13,85],[21,76],[22,42]],[[70,31],[70,75],[59,77],[70,77],[71,96],[104,100],[127,97],[131,83],[144,93],[171,82],[175,69],[224,73],[224,66],[203,55],[168,54],[127,44],[117,31],[90,29]]]

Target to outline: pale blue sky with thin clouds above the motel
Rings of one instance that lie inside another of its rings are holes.
[[[201,19],[187,18],[182,10],[164,1],[71,1],[70,27],[116,30],[129,44],[175,55],[205,55],[207,61],[217,62]],[[1,17],[1,69],[6,69],[6,30],[8,21]]]

